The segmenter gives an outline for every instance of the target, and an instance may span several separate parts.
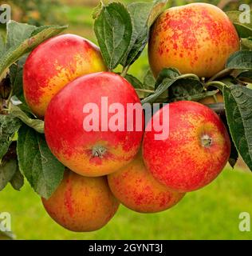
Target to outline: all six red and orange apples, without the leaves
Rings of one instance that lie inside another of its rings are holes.
[[[156,20],[149,62],[155,76],[175,67],[208,78],[238,47],[226,14],[191,4],[165,10]],[[225,125],[199,102],[168,104],[142,130],[85,130],[86,104],[100,110],[103,97],[119,102],[126,123],[127,104],[140,104],[140,98],[125,78],[107,70],[99,48],[80,36],[63,34],[37,46],[26,60],[23,86],[30,109],[45,120],[49,149],[66,166],[61,185],[42,198],[45,210],[66,229],[98,230],[120,203],[140,213],[167,210],[212,182],[230,157]],[[166,108],[169,136],[156,140],[152,126]]]

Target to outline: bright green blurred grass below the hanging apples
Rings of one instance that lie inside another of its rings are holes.
[[[28,184],[0,194],[0,211],[10,212],[18,239],[251,239],[238,229],[241,212],[252,214],[250,173],[227,168],[210,186],[189,193],[171,210],[137,214],[120,206],[111,222],[92,233],[73,233],[46,214]]]

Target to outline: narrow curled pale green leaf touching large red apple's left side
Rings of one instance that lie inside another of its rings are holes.
[[[44,121],[40,119],[30,118],[24,111],[22,111],[18,106],[11,106],[10,114],[15,118],[19,118],[27,126],[30,126],[40,134],[44,134]]]

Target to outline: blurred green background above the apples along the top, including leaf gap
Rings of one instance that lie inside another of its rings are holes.
[[[138,0],[152,2],[153,0]],[[99,0],[5,0],[0,1],[10,4],[12,7],[12,19],[18,22],[27,22],[32,25],[47,24],[69,24],[66,32],[79,34],[96,42],[93,34],[93,8]],[[104,0],[110,2],[110,0]],[[133,0],[122,0],[125,4],[134,2]],[[136,1],[135,1],[136,2]],[[181,6],[193,0],[170,0],[168,7]],[[252,6],[251,0],[208,0],[201,1],[220,6],[223,10],[238,10],[242,3]],[[148,70],[147,51],[132,66],[130,72],[137,78],[143,78],[145,71]]]

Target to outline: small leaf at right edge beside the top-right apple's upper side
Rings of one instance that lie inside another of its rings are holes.
[[[231,22],[234,23],[240,38],[248,38],[252,36],[252,12],[250,12],[250,23],[245,23],[240,20],[240,17],[242,17],[242,12],[240,11],[228,11],[226,14],[230,18]]]

